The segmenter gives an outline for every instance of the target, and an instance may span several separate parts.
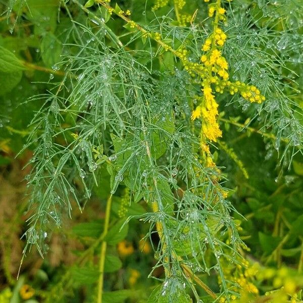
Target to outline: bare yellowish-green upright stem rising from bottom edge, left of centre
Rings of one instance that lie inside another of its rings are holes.
[[[108,233],[109,230],[109,223],[110,223],[110,215],[111,215],[111,208],[112,208],[112,197],[111,194],[107,200],[106,204],[106,211],[105,211],[105,221],[104,221],[104,230],[102,237]],[[103,281],[104,281],[104,263],[105,263],[105,255],[106,255],[106,248],[107,242],[104,240],[101,244],[101,251],[100,251],[100,261],[99,261],[99,279],[98,279],[98,296],[97,296],[97,303],[102,303],[102,293],[103,293]]]

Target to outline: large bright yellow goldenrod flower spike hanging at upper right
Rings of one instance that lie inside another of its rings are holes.
[[[209,1],[205,1],[209,2]],[[189,71],[191,75],[195,73],[201,77],[201,85],[203,86],[203,98],[200,104],[195,108],[192,113],[191,119],[195,120],[201,118],[201,146],[205,145],[205,140],[217,141],[217,138],[222,136],[222,131],[217,123],[218,104],[214,97],[214,91],[223,93],[227,87],[231,94],[239,91],[241,96],[249,102],[261,103],[265,97],[261,95],[259,89],[253,85],[247,85],[236,81],[230,82],[228,74],[228,63],[222,56],[221,48],[226,41],[226,34],[218,26],[218,19],[225,13],[225,9],[221,7],[220,2],[209,5],[209,16],[213,17],[216,14],[218,17],[214,23],[214,31],[205,40],[202,46],[204,54],[201,56],[200,61],[202,64],[196,65],[186,60],[187,52],[182,49],[179,58],[182,60],[184,68]],[[214,84],[214,91],[212,85]],[[206,153],[209,155],[210,153]],[[206,159],[212,166],[213,162],[210,157]]]

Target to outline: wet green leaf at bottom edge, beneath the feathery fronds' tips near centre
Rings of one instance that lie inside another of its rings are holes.
[[[146,303],[192,303],[190,296],[180,288],[176,288],[174,293],[167,290],[163,292],[162,285],[157,286],[153,292],[151,292]]]

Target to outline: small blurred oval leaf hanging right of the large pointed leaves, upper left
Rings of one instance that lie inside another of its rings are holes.
[[[45,66],[52,67],[60,61],[62,44],[51,32],[45,33],[41,41],[41,55]]]

